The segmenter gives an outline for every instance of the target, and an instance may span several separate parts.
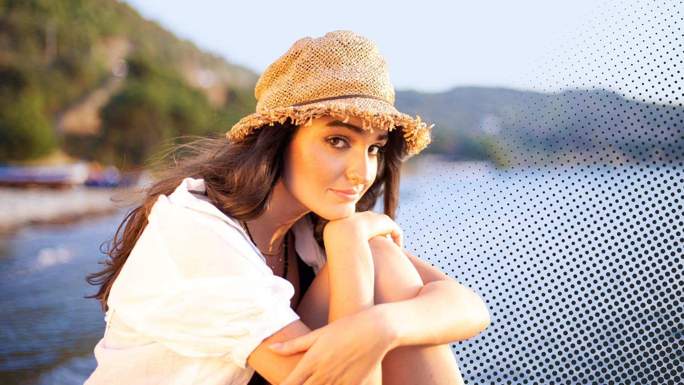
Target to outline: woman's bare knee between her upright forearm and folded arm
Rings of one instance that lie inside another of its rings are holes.
[[[375,269],[375,303],[404,301],[418,295],[423,281],[404,252],[392,240],[369,240]]]

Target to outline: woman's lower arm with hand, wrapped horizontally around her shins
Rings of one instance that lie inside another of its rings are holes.
[[[474,311],[469,311],[471,306]],[[363,377],[371,370],[369,364],[378,356],[384,358],[395,347],[445,345],[474,336],[488,323],[488,320],[477,319],[482,316],[478,307],[484,307],[484,304],[471,290],[461,288],[458,282],[437,280],[423,286],[417,297],[381,303],[344,316],[304,336],[285,341],[276,351],[285,356],[306,351],[288,377],[287,385],[304,384],[313,373],[319,380],[313,382],[315,384],[327,384],[347,375]],[[485,310],[484,314],[488,312]],[[339,371],[337,364],[341,362],[354,364],[348,364],[347,371]],[[361,383],[348,380],[341,383]]]

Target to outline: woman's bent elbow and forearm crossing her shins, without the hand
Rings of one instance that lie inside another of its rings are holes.
[[[466,340],[489,325],[489,312],[482,299],[451,280],[429,282],[416,297],[382,303],[373,310],[380,312],[393,334],[391,348]]]

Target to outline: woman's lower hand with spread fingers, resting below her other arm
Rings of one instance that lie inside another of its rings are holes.
[[[283,355],[306,351],[280,385],[365,384],[394,347],[387,324],[369,308],[271,348]]]

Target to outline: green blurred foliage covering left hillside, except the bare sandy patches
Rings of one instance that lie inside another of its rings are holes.
[[[100,131],[55,132],[60,114],[112,77],[108,38],[132,48],[129,73],[101,110]],[[219,75],[224,105],[212,107],[188,84],[182,71],[189,66]],[[226,132],[253,112],[256,79],[144,20],[126,3],[0,0],[0,161],[38,158],[61,145],[71,156],[140,166],[164,140]]]

